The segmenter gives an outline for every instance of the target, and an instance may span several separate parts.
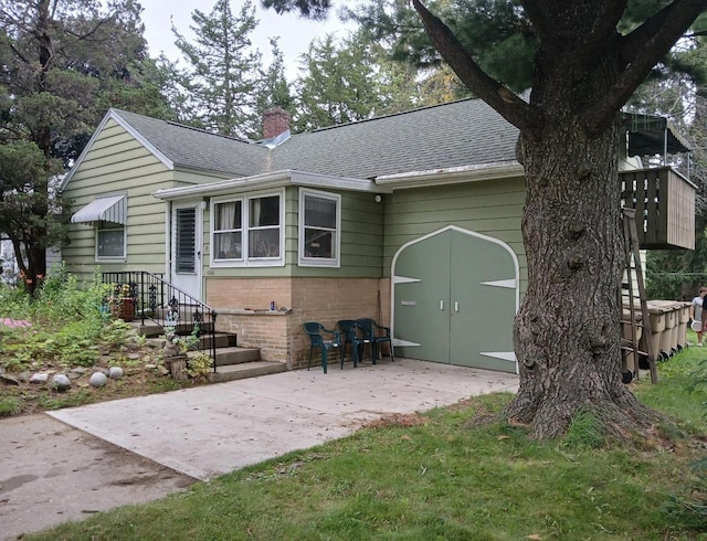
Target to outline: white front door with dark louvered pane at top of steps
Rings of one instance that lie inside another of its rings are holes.
[[[201,203],[172,205],[171,283],[201,300]]]

